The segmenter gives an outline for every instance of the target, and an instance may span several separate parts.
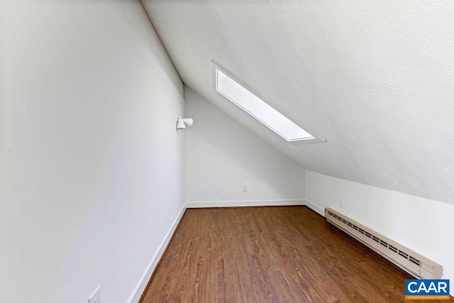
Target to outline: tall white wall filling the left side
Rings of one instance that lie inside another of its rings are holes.
[[[184,207],[182,83],[138,2],[1,6],[0,302],[127,302]]]

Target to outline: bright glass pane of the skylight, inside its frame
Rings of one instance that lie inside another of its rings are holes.
[[[316,139],[217,67],[216,91],[288,142]]]

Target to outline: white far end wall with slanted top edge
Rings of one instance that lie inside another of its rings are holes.
[[[189,206],[301,202],[304,170],[297,162],[189,87],[184,87],[184,98],[186,116],[194,119],[194,125],[185,130]],[[248,184],[248,192],[242,191],[243,184]]]

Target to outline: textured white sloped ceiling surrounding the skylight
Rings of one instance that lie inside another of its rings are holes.
[[[307,170],[454,204],[454,1],[142,2],[183,82]],[[230,104],[212,59],[326,143]]]

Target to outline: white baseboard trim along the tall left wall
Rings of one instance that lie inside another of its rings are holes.
[[[135,290],[133,294],[131,294],[131,297],[128,300],[128,303],[138,303],[140,300],[140,297],[142,296],[143,292],[145,291],[145,287],[148,285],[148,281],[150,281],[151,275],[153,275],[153,271],[155,270],[157,263],[159,262],[160,258],[162,257],[162,254],[165,251],[165,248],[167,248],[167,245],[170,242],[170,239],[173,236],[173,233],[175,233],[175,229],[177,228],[179,221],[182,219],[182,216],[184,214],[184,211],[186,210],[186,204],[183,206],[182,210],[179,211],[179,214],[177,216],[177,219],[172,224],[172,227],[170,228],[170,231],[167,233],[167,236],[165,236],[164,241],[162,241],[159,250],[153,255],[153,258],[150,261],[150,264],[148,265],[147,270],[143,273],[142,277],[140,278],[140,281],[138,282],[138,285],[135,287]]]

